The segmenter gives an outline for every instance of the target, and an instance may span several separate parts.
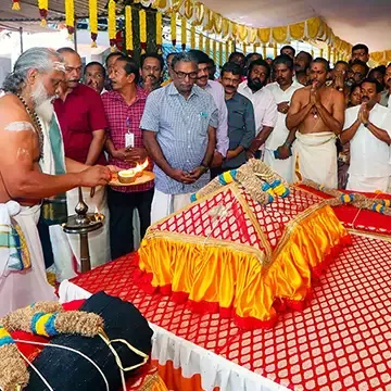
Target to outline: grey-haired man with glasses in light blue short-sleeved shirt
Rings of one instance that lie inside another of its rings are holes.
[[[151,223],[190,203],[210,180],[216,148],[218,111],[213,97],[198,87],[198,65],[186,53],[172,61],[173,83],[152,91],[141,118],[146,149],[155,163]]]

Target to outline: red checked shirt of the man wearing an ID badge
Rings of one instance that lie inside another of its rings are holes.
[[[104,113],[109,122],[109,138],[113,141],[116,150],[125,148],[125,135],[130,131],[135,135],[135,148],[144,148],[142,142],[142,130],[140,129],[140,121],[146,106],[148,93],[142,88],[137,87],[136,101],[133,104],[127,104],[119,92],[109,91],[102,94]],[[134,167],[136,164],[126,163],[121,160],[109,157],[109,164],[127,169]],[[152,171],[152,163],[150,163],[148,171]],[[130,187],[115,187],[115,191],[135,192],[147,191],[153,188],[153,181],[147,184],[130,186]]]

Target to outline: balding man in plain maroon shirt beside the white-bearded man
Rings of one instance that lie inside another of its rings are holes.
[[[80,55],[72,48],[61,48],[58,52],[65,63],[64,81],[59,86],[59,98],[54,100],[54,111],[59,118],[63,136],[65,157],[76,162],[94,165],[106,164],[103,146],[108,121],[101,96],[80,83],[83,63]],[[90,211],[99,210],[106,217],[109,209],[104,187],[96,189],[90,197],[90,189],[83,189],[84,200]],[[70,214],[74,213],[78,203],[78,191],[72,190],[66,194]],[[70,236],[73,253],[79,258],[79,239]],[[103,229],[90,236],[90,254],[93,266],[111,260],[108,224]]]

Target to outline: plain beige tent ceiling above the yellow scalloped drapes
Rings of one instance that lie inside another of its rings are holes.
[[[368,45],[370,51],[390,47],[390,0],[203,0],[211,10],[252,27],[276,27],[320,16],[341,39]]]

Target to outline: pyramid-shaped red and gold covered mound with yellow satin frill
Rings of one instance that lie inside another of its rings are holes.
[[[272,327],[278,311],[303,308],[350,242],[325,200],[289,187],[261,161],[220,175],[192,201],[149,228],[135,280],[241,328]]]

